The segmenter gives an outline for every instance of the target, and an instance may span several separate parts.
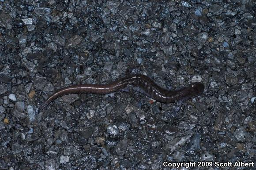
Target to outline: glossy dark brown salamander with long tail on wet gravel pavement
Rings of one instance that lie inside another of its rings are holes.
[[[66,94],[109,94],[115,91],[129,91],[133,89],[140,93],[146,94],[150,98],[163,103],[172,103],[178,100],[187,100],[200,95],[204,90],[203,83],[191,83],[186,87],[178,90],[168,90],[159,87],[149,77],[141,74],[126,76],[109,84],[80,84],[64,87],[53,93],[40,107],[44,109],[50,102]]]

